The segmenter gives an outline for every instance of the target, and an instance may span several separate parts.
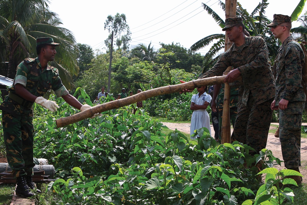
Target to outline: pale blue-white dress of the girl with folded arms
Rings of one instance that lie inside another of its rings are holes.
[[[191,102],[193,102],[194,104],[198,104],[198,105],[204,105],[205,101],[210,103],[211,100],[212,100],[212,97],[208,95],[206,92],[204,92],[200,97],[199,97],[199,93],[194,94],[192,96]],[[209,118],[209,114],[207,110],[205,109],[194,110],[192,113],[191,127],[190,127],[191,139],[195,139],[194,137],[192,137],[192,135],[194,134],[194,130],[200,129],[203,127],[208,128],[210,132],[210,136],[211,136],[210,118]]]

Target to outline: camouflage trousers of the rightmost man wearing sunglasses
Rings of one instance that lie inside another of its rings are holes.
[[[301,125],[304,101],[289,102],[287,109],[279,110],[279,139],[282,158],[287,169],[301,164]]]

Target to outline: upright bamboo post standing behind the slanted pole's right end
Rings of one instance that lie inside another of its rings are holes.
[[[236,17],[237,0],[225,0],[225,17],[234,18]],[[227,34],[225,32],[225,51],[232,45],[232,42],[228,40]],[[229,73],[231,66],[227,68],[225,74]],[[230,86],[225,83],[224,92],[224,105],[223,105],[223,120],[222,120],[222,130],[221,130],[221,143],[231,143],[231,130],[230,130]]]

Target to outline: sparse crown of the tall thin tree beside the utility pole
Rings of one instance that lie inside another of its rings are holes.
[[[118,49],[126,51],[131,41],[131,32],[126,21],[125,14],[117,13],[115,16],[109,15],[104,23],[104,29],[108,30],[110,35],[104,41],[108,50],[111,48],[111,33],[114,31],[115,44]]]

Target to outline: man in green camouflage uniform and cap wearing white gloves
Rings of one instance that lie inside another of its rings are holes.
[[[37,38],[37,58],[26,58],[17,66],[13,85],[9,95],[0,105],[2,110],[2,126],[7,161],[16,178],[16,195],[31,197],[35,195],[32,182],[33,167],[33,108],[34,102],[48,108],[52,112],[59,106],[54,101],[42,97],[49,89],[58,97],[81,111],[91,106],[82,105],[70,95],[62,84],[58,70],[48,65],[56,54],[54,43],[50,37]],[[37,190],[41,193],[40,190]]]

